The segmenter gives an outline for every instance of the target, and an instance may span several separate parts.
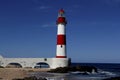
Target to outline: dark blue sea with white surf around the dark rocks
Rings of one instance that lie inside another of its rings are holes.
[[[117,63],[72,63],[71,65],[94,66],[98,72],[93,71],[87,74],[78,71],[70,73],[35,72],[30,75],[37,78],[45,77],[47,80],[103,80],[120,76],[120,64]]]

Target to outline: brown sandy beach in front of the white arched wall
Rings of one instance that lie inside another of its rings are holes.
[[[24,68],[0,68],[0,80],[12,80],[14,78],[28,77],[28,73],[36,71],[48,71],[49,69],[24,69]]]

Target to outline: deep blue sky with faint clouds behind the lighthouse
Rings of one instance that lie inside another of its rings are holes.
[[[0,0],[0,54],[55,57],[60,8],[72,62],[120,63],[120,0]]]

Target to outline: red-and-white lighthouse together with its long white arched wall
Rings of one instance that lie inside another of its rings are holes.
[[[66,18],[63,9],[58,12],[57,18],[57,47],[56,57],[53,58],[4,58],[0,56],[0,66],[6,67],[9,64],[19,64],[21,67],[35,68],[40,64],[47,64],[50,69],[58,67],[68,67],[71,63],[71,59],[67,58],[66,53]],[[24,62],[24,63],[23,63]],[[41,68],[41,67],[40,67]]]

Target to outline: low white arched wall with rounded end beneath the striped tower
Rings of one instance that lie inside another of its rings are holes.
[[[68,66],[69,61],[70,59],[68,58],[4,58],[0,56],[0,66],[3,67],[19,64],[23,68],[35,68],[36,66],[41,66],[41,68],[42,66],[48,68],[57,68]]]

